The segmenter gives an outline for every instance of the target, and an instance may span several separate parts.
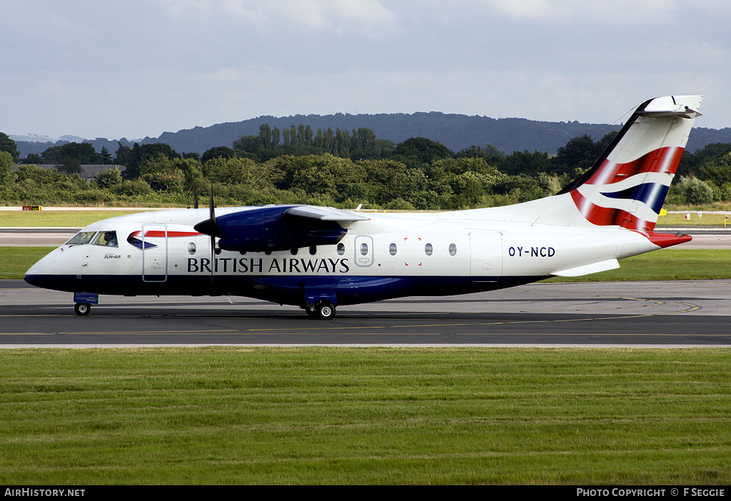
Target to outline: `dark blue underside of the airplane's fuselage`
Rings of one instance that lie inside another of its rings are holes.
[[[312,298],[357,305],[406,296],[449,296],[493,291],[543,280],[531,277],[365,277],[365,276],[205,276],[26,275],[31,285],[56,291],[121,296],[243,296],[302,306]]]

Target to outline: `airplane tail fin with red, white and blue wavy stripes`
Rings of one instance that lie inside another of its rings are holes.
[[[558,194],[599,226],[651,232],[685,150],[702,96],[650,99],[589,169]]]

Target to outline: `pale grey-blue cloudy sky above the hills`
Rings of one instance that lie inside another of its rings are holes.
[[[4,0],[0,131],[88,139],[260,115],[614,123],[703,94],[731,126],[728,0]]]

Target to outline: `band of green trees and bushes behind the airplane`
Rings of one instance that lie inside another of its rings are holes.
[[[0,200],[5,204],[192,205],[213,188],[219,205],[320,204],[374,209],[455,210],[492,207],[555,194],[590,169],[616,133],[598,141],[570,139],[555,156],[534,151],[507,155],[492,145],[452,152],[414,137],[398,145],[369,129],[286,132],[264,124],[232,147],[199,156],[164,143],[129,147],[115,157],[86,143],[45,150],[42,161],[12,170],[12,147],[0,133]],[[9,138],[8,138],[9,139]],[[10,140],[12,142],[12,140]],[[91,148],[91,150],[89,149]],[[17,153],[17,150],[16,150]],[[17,156],[16,156],[17,157]],[[37,160],[37,158],[34,158]],[[38,167],[59,163],[56,169]],[[83,180],[69,165],[115,164]],[[731,145],[716,143],[683,155],[670,188],[671,204],[731,200]],[[1,203],[1,202],[0,202]]]

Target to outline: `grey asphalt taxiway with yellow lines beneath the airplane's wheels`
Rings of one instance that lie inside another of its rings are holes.
[[[731,280],[535,283],[339,307],[333,321],[232,297],[100,297],[0,280],[0,348],[129,345],[731,346]]]

